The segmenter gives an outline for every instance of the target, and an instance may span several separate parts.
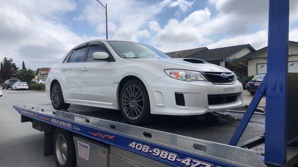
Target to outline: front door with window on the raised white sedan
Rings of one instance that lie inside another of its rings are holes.
[[[104,60],[93,59],[94,52],[106,52],[109,58]],[[100,42],[90,43],[81,80],[81,98],[91,101],[112,102],[114,66],[115,59],[104,44]]]

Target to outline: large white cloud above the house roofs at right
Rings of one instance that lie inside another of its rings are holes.
[[[157,31],[151,43],[160,44],[156,47],[164,52],[248,43],[259,49],[267,45],[269,0],[209,0],[209,3],[216,6],[216,15],[211,17],[212,13],[205,8],[190,13],[182,21],[172,18]],[[298,0],[290,0],[290,22],[296,21]]]

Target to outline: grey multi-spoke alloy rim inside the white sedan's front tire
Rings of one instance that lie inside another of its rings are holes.
[[[144,95],[136,85],[128,86],[122,95],[122,108],[129,119],[138,119],[144,111]]]

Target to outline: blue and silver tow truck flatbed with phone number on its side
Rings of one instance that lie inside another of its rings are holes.
[[[21,114],[22,122],[31,121],[35,129],[45,131],[45,156],[56,154],[52,147],[55,130],[72,134],[80,167],[94,166],[100,160],[98,155],[107,161],[99,167],[265,167],[251,150],[226,145],[238,121],[213,113],[159,115],[150,124],[134,126],[124,123],[119,111],[93,107],[72,105],[67,111],[57,111],[48,104],[19,104],[14,108]],[[243,142],[263,134],[263,116],[254,114]],[[94,148],[104,154],[94,152]],[[87,157],[79,155],[81,149],[85,149]]]

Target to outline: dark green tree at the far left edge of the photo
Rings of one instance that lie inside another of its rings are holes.
[[[15,76],[18,68],[13,62],[12,58],[4,57],[3,61],[0,62],[0,81],[4,82],[6,79],[10,79]]]

